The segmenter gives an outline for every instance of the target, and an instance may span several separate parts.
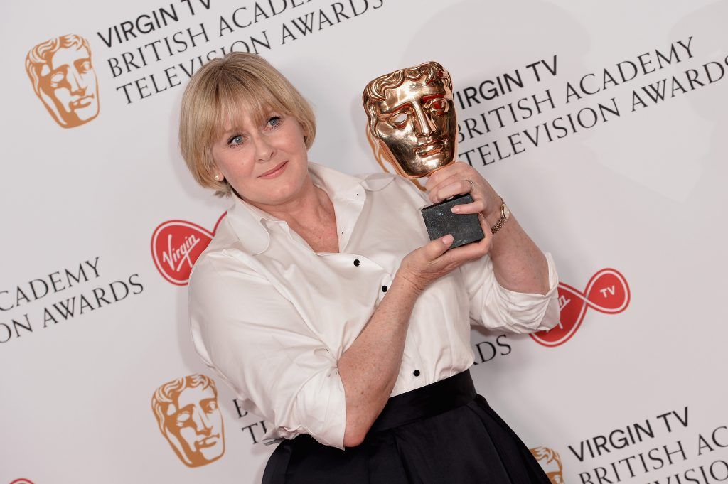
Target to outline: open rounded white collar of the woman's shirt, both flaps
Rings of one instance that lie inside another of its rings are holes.
[[[373,173],[364,177],[325,167],[323,164],[309,162],[309,174],[315,186],[323,189],[332,202],[342,200],[362,203],[365,191],[379,191],[394,179],[389,173]],[[285,223],[264,210],[232,195],[234,205],[228,210],[227,220],[245,250],[253,255],[263,253],[270,245],[270,233],[266,223]],[[267,222],[266,222],[267,221]]]

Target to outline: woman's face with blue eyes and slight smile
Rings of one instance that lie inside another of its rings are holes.
[[[270,111],[260,126],[248,114],[239,116],[237,124],[228,124],[213,143],[215,175],[254,205],[295,199],[308,179],[308,154],[298,120]]]

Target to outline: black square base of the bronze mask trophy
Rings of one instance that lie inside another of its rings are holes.
[[[470,244],[470,242],[478,242],[486,237],[483,229],[480,228],[477,213],[452,213],[451,209],[455,205],[472,202],[470,194],[464,194],[424,207],[422,218],[424,218],[424,225],[427,227],[430,240],[452,234],[454,241],[450,248],[454,249]]]

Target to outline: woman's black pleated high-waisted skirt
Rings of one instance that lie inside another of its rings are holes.
[[[550,484],[521,439],[475,392],[470,370],[392,397],[346,451],[299,435],[263,484]]]

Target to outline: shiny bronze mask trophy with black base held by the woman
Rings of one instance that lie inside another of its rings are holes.
[[[397,173],[427,177],[455,161],[457,119],[450,74],[436,62],[400,69],[369,82],[362,95],[372,138]],[[452,213],[472,203],[458,195],[422,209],[430,240],[453,234],[451,248],[483,239],[478,215]]]

